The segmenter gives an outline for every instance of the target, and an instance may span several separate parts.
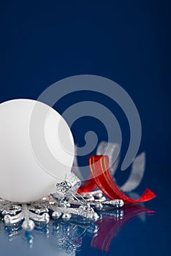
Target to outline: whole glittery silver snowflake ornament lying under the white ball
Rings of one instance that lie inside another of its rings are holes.
[[[101,195],[98,191],[94,193],[94,195],[98,194]],[[85,219],[86,222],[96,222],[99,219],[99,215],[96,214],[94,208],[100,211],[104,206],[118,208],[123,206],[123,201],[104,200],[103,196],[95,199],[91,194],[89,199],[86,200],[86,204],[84,200],[75,200],[72,197],[63,206],[61,206],[61,201],[52,196],[33,203],[12,204],[7,200],[0,200],[0,214],[7,227],[20,226],[23,230],[31,231],[36,225],[45,227],[49,223],[50,217],[54,220],[62,218],[65,221],[69,221],[69,219],[76,216]]]

